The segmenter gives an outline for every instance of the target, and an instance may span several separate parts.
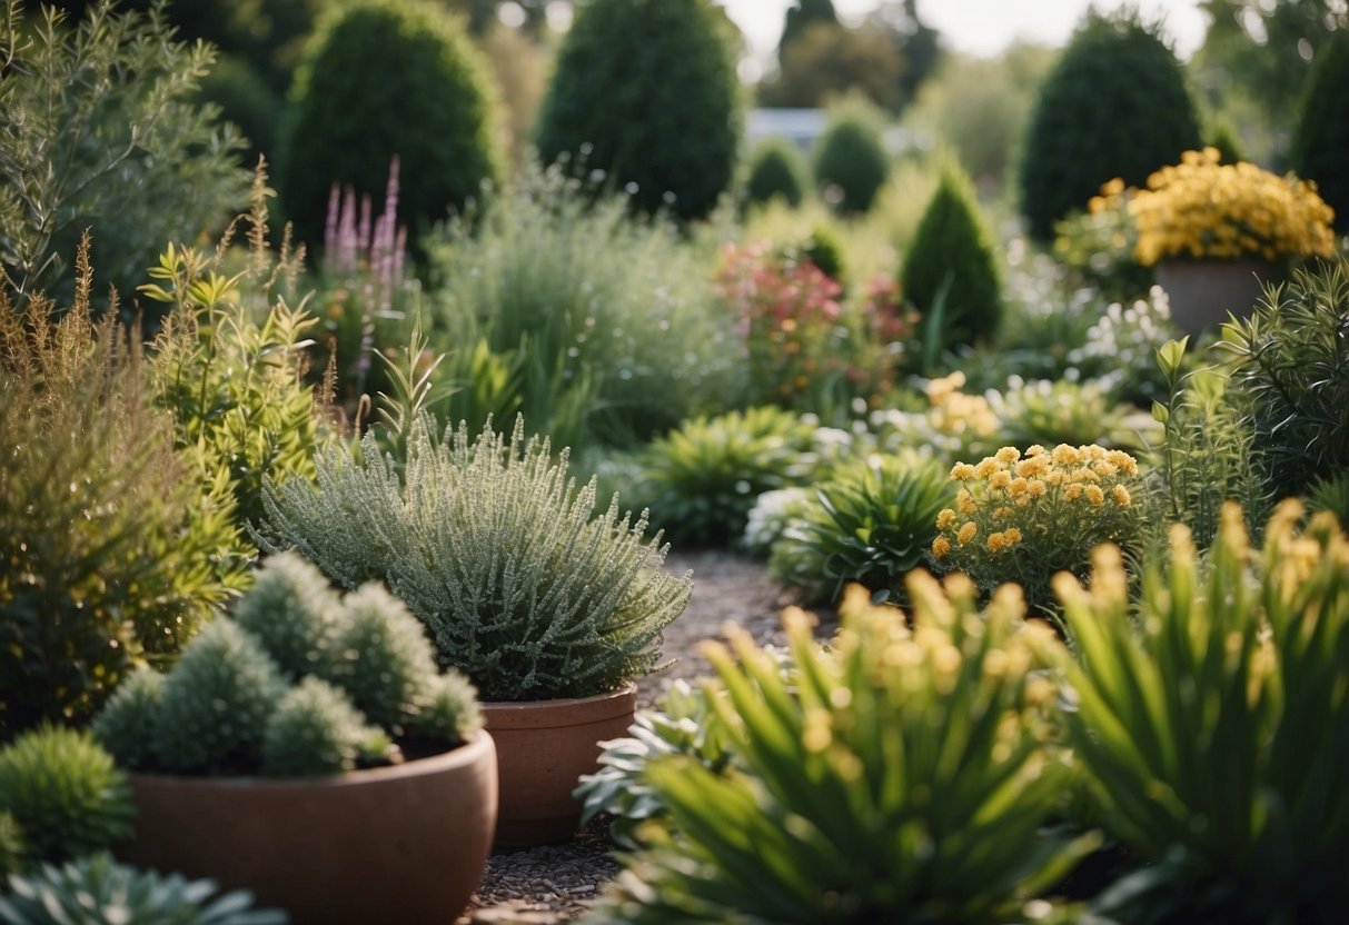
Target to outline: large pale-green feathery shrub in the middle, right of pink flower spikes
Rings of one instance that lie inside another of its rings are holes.
[[[522,165],[430,245],[448,421],[523,413],[577,452],[630,445],[734,392],[734,318],[706,255],[554,166]],[[724,399],[723,399],[724,400]],[[437,411],[440,409],[437,407]]]

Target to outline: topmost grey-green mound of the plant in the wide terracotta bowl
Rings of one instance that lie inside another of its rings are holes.
[[[232,616],[291,678],[312,673],[337,634],[337,592],[322,572],[295,553],[267,560]]]

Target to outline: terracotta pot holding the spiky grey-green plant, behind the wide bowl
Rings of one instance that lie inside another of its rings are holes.
[[[577,778],[599,767],[602,740],[627,735],[635,711],[634,684],[596,697],[483,704],[500,775],[495,847],[556,844],[576,835]]]

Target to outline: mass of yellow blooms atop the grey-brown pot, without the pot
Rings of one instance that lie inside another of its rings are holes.
[[[1218,160],[1217,148],[1186,151],[1179,165],[1148,177],[1147,189],[1125,189],[1116,178],[1087,208],[1102,212],[1122,197],[1139,232],[1135,256],[1145,266],[1166,258],[1275,260],[1334,251],[1334,210],[1315,183]]]

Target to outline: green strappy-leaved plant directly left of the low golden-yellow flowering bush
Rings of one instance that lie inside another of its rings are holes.
[[[873,456],[844,465],[773,545],[769,573],[811,603],[835,603],[861,584],[877,600],[902,593],[904,576],[927,561],[936,515],[955,499],[931,457]]]

